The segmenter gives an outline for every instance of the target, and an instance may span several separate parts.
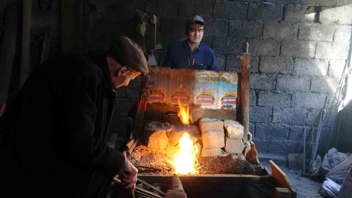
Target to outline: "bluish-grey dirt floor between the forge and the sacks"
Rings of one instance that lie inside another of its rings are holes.
[[[260,161],[260,163],[264,167],[268,168],[271,172],[269,161]],[[299,172],[293,171],[287,167],[279,167],[283,172],[285,172],[285,174],[289,177],[290,181],[292,182],[293,186],[296,188],[297,198],[322,198],[322,196],[319,195],[319,191],[322,186],[321,183],[313,181],[306,177],[302,177]]]

